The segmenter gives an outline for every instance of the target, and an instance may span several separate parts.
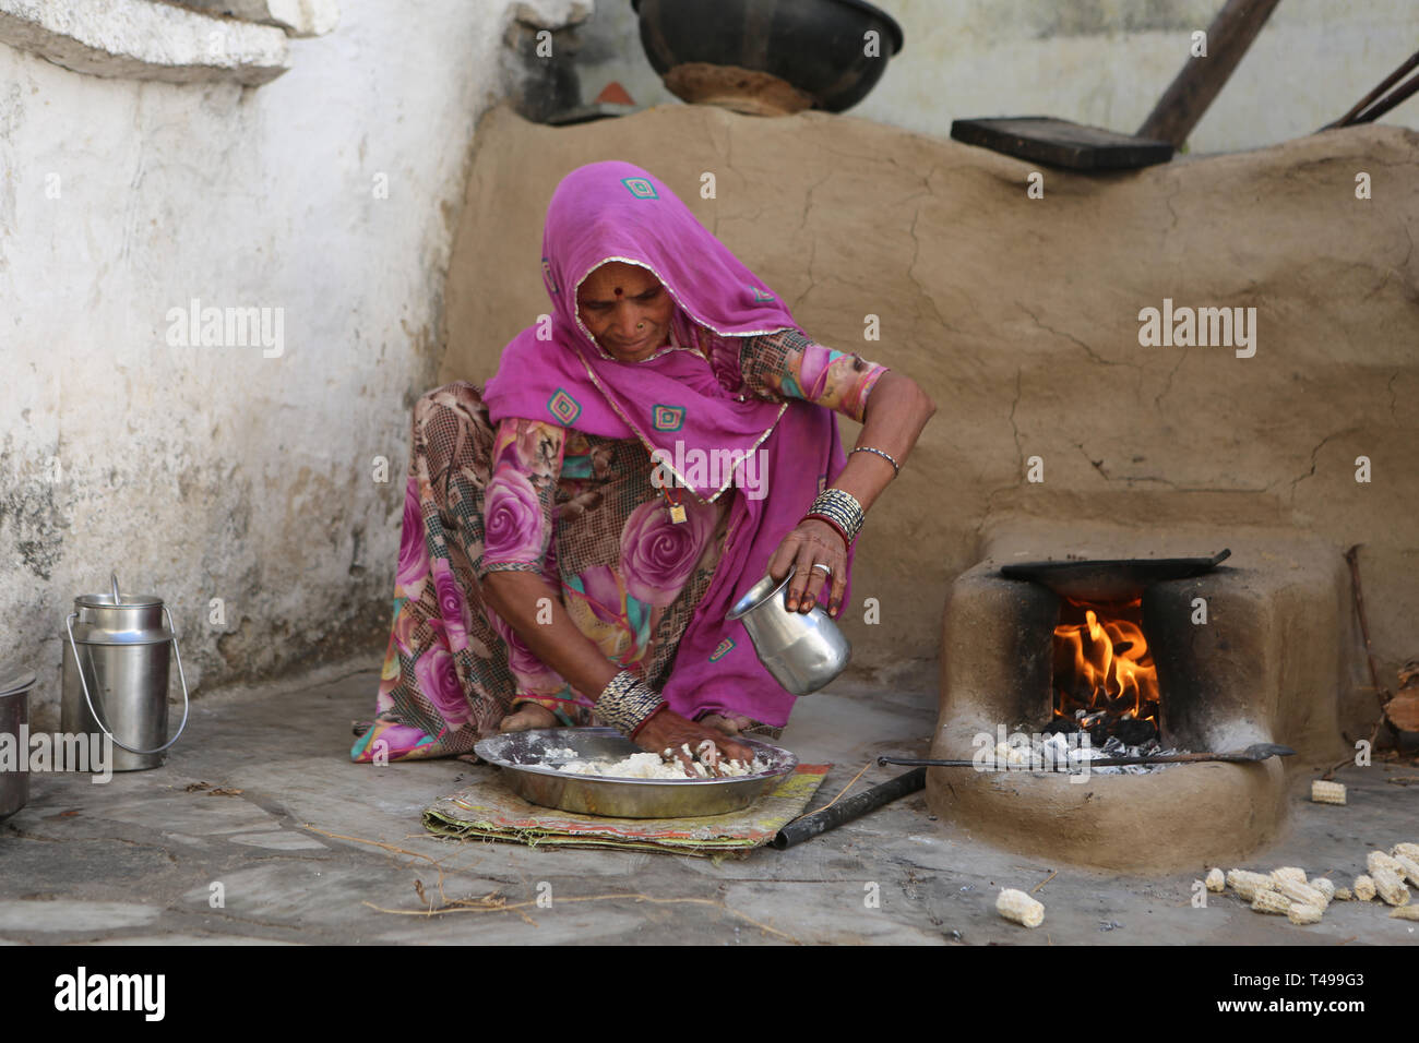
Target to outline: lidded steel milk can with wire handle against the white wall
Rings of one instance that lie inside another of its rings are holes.
[[[187,677],[172,613],[150,595],[79,595],[65,620],[60,722],[68,734],[114,739],[114,771],[158,768],[187,727]],[[182,678],[182,724],[167,738],[169,647]]]

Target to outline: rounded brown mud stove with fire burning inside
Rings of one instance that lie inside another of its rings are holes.
[[[1081,555],[1078,543],[1054,553],[1040,541],[992,546],[946,602],[931,756],[969,759],[1002,729],[1071,742],[1084,729],[1094,748],[1112,736],[1145,754],[1280,742],[1296,756],[1073,782],[1043,769],[932,768],[932,812],[1002,847],[1132,871],[1233,866],[1271,840],[1286,819],[1287,772],[1300,780],[1307,766],[1344,756],[1349,587],[1332,548],[1229,543],[1225,565],[1209,553],[1181,573],[1158,558]],[[1057,565],[1020,568],[1026,561]],[[1169,575],[1182,578],[1159,578]]]

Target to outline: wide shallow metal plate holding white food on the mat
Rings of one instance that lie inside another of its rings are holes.
[[[553,749],[572,749],[572,759],[620,761],[643,754],[614,728],[539,728],[484,739],[474,752],[502,769],[514,793],[542,807],[612,819],[698,819],[744,810],[797,768],[797,756],[766,742],[739,736],[769,766],[735,779],[604,779],[568,775],[548,763]]]

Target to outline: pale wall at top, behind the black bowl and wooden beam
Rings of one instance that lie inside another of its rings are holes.
[[[942,138],[952,119],[1026,115],[1132,133],[1186,61],[1192,31],[1222,9],[1222,0],[873,1],[897,18],[907,43],[849,115]],[[587,101],[619,79],[639,105],[680,104],[646,60],[630,0],[602,0],[587,37]],[[1307,135],[1416,48],[1415,0],[1283,0],[1189,150]],[[1419,129],[1419,98],[1381,122]]]

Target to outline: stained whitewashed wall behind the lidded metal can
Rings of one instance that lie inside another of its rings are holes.
[[[0,45],[0,660],[40,671],[41,721],[111,569],[167,600],[209,687],[387,624],[474,123],[512,9],[573,7],[346,3],[260,88]],[[193,298],[282,309],[284,352],[169,345]]]

